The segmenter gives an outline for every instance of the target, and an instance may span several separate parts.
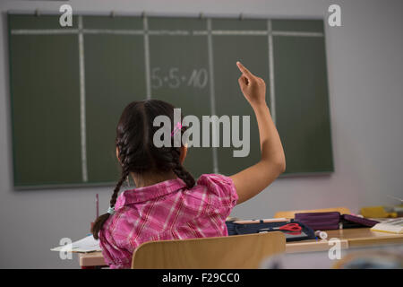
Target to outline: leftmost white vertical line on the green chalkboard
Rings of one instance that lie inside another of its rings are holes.
[[[88,181],[87,167],[87,135],[85,126],[85,66],[84,66],[84,35],[82,33],[82,16],[79,25],[79,61],[80,61],[80,128],[81,128],[81,176],[82,181]]]

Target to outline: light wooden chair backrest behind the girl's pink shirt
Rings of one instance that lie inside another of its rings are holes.
[[[262,260],[286,250],[282,232],[228,237],[150,241],[133,253],[135,269],[258,268]]]

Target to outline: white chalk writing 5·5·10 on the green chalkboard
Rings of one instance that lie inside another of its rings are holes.
[[[161,67],[151,69],[151,87],[152,89],[170,88],[178,89],[181,86],[203,89],[208,81],[209,74],[205,68],[195,68],[191,73],[181,73],[179,68],[171,67],[167,71]]]

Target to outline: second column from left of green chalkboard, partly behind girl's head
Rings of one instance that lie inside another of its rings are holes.
[[[84,27],[142,29],[139,19],[86,17]],[[136,21],[137,20],[137,21]],[[116,125],[124,107],[146,99],[144,39],[141,35],[94,33],[84,36],[88,180],[119,176]]]

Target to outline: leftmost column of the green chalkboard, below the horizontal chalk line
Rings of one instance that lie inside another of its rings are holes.
[[[10,40],[14,183],[81,183],[77,39],[16,35]]]

